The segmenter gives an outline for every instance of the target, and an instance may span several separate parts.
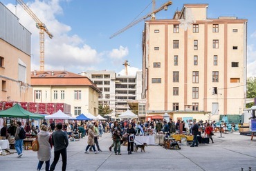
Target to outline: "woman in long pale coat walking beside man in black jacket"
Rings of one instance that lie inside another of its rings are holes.
[[[39,143],[39,150],[37,151],[37,159],[39,159],[37,171],[41,170],[44,162],[46,162],[46,171],[48,171],[50,168],[52,148],[51,134],[48,132],[46,125],[42,124],[40,128],[41,131],[37,134],[37,141]]]

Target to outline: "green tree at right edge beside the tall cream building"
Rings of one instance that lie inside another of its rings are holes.
[[[256,98],[256,77],[249,77],[247,79],[246,98]],[[254,103],[247,103],[246,108],[251,108]]]

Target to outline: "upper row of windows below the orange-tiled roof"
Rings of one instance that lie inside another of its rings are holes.
[[[59,95],[58,91],[53,90],[53,99],[57,100],[58,95]],[[47,96],[48,96],[48,92],[45,91],[46,99],[47,99]],[[74,90],[74,99],[75,100],[81,100],[81,96],[82,96],[81,90]],[[42,90],[35,90],[35,99],[40,100],[41,98],[42,98]],[[60,99],[61,100],[65,99],[65,91],[64,90],[60,90]]]

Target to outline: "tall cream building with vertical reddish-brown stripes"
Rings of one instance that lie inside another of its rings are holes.
[[[148,117],[219,119],[241,114],[246,98],[247,20],[208,19],[208,4],[185,4],[143,33],[143,97]]]

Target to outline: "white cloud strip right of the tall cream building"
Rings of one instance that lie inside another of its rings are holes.
[[[247,48],[247,77],[255,77],[256,75],[256,49],[254,45],[249,45]]]

